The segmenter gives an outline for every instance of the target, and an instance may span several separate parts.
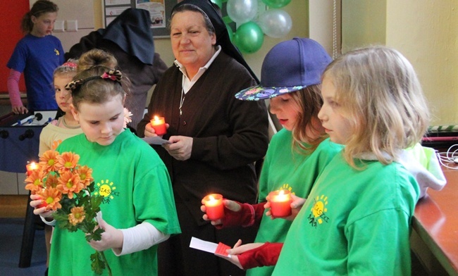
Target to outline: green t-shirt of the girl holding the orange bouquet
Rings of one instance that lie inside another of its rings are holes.
[[[101,212],[109,225],[126,229],[149,222],[164,234],[180,233],[166,166],[132,132],[121,132],[109,146],[88,142],[85,134],[79,134],[63,141],[57,150],[78,153],[79,163],[92,168],[94,193],[104,196]],[[55,227],[49,275],[94,275],[89,258],[94,252],[82,231]],[[124,256],[115,256],[111,249],[104,251],[113,275],[157,275],[156,252],[157,245]]]

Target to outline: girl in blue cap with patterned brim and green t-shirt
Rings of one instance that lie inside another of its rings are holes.
[[[284,242],[291,220],[303,199],[293,203],[289,220],[272,220],[264,209],[269,192],[287,189],[293,196],[307,198],[316,177],[342,146],[326,139],[318,111],[321,99],[321,74],[332,61],[323,46],[313,39],[295,38],[280,42],[264,59],[261,84],[237,93],[237,99],[270,99],[270,111],[283,125],[268,146],[259,179],[259,203],[224,200],[225,218],[212,221],[217,228],[233,225],[259,226],[256,243]],[[268,206],[269,203],[267,203]],[[202,211],[206,209],[202,206]],[[264,215],[266,213],[266,215]],[[204,220],[208,217],[204,215]],[[254,268],[244,263],[247,275],[271,275],[273,267]]]

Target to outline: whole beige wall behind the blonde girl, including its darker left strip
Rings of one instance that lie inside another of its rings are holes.
[[[385,44],[414,65],[433,114],[458,123],[458,1],[342,1],[342,50]],[[385,23],[384,23],[385,22]]]

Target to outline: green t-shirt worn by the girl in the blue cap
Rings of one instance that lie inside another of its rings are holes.
[[[307,198],[318,175],[328,165],[342,146],[324,140],[310,155],[291,148],[292,132],[280,130],[268,146],[266,158],[259,179],[259,202],[266,201],[269,192],[290,189],[292,194]],[[284,242],[290,220],[271,218],[263,215],[254,242]],[[272,275],[273,266],[252,268],[247,275]]]

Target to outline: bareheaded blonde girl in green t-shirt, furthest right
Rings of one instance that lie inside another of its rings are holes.
[[[351,51],[323,74],[320,118],[345,144],[292,223],[273,275],[410,275],[410,221],[420,188],[398,163],[429,112],[399,51]]]

